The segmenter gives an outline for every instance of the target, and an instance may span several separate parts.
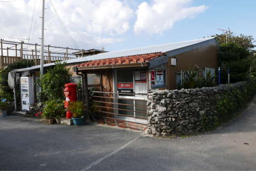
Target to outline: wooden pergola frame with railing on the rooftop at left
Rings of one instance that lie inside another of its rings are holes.
[[[63,48],[59,46],[44,46],[44,64],[52,63],[55,61],[69,60],[77,58],[75,52],[83,52],[82,49]],[[24,41],[8,41],[1,39],[1,58],[0,58],[0,70],[7,66],[9,63],[20,61],[22,59],[28,59],[34,61],[35,65],[40,65],[41,57],[41,45],[28,44]],[[83,53],[82,56],[83,57]]]

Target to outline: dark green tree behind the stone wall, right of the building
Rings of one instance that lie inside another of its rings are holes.
[[[213,36],[212,36],[213,37]],[[216,34],[221,49],[218,52],[218,65],[221,68],[221,83],[228,81],[228,68],[230,75],[230,83],[237,81],[247,80],[249,78],[250,66],[253,67],[255,58],[252,56],[255,54],[256,46],[254,38],[249,35],[240,34],[239,36],[233,33],[227,36],[228,43],[226,44],[226,34]],[[256,73],[256,72],[255,72]]]

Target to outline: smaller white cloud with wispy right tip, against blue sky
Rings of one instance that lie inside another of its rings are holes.
[[[135,34],[163,34],[171,29],[175,22],[184,18],[195,18],[208,7],[202,5],[190,7],[192,0],[154,0],[152,5],[141,3],[136,10]]]

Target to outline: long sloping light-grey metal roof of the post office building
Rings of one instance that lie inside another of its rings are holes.
[[[201,42],[210,42],[209,40],[215,40],[217,43],[217,46],[219,46],[218,41],[215,39],[215,37],[209,37],[209,38],[203,38],[203,39],[197,39],[197,40],[190,40],[190,41],[183,41],[183,42],[176,42],[173,44],[165,44],[165,45],[157,45],[157,46],[150,46],[150,47],[143,47],[143,48],[136,48],[136,49],[128,49],[128,50],[122,50],[122,51],[115,51],[115,52],[106,52],[106,53],[100,53],[97,55],[92,56],[86,56],[86,57],[80,57],[75,59],[66,60],[67,63],[79,63],[79,62],[87,62],[91,60],[100,60],[100,59],[108,59],[108,58],[116,58],[116,57],[124,57],[124,56],[133,56],[133,55],[143,55],[143,54],[150,54],[150,53],[166,53],[169,51],[182,49],[185,47],[193,46],[196,44],[200,44]],[[212,41],[211,41],[212,42]],[[61,61],[63,62],[63,61]],[[50,67],[55,65],[54,63],[47,63],[44,65],[44,67]],[[13,71],[30,71],[39,69],[40,66],[33,66],[30,68],[23,68]]]

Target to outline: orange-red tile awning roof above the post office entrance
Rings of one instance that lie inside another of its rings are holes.
[[[160,57],[163,55],[165,55],[165,54],[164,53],[151,53],[151,54],[144,54],[144,55],[125,56],[125,57],[119,57],[119,58],[92,60],[90,62],[82,63],[81,65],[77,65],[77,67],[148,62],[149,60],[152,60],[154,58],[157,58],[157,57]]]

